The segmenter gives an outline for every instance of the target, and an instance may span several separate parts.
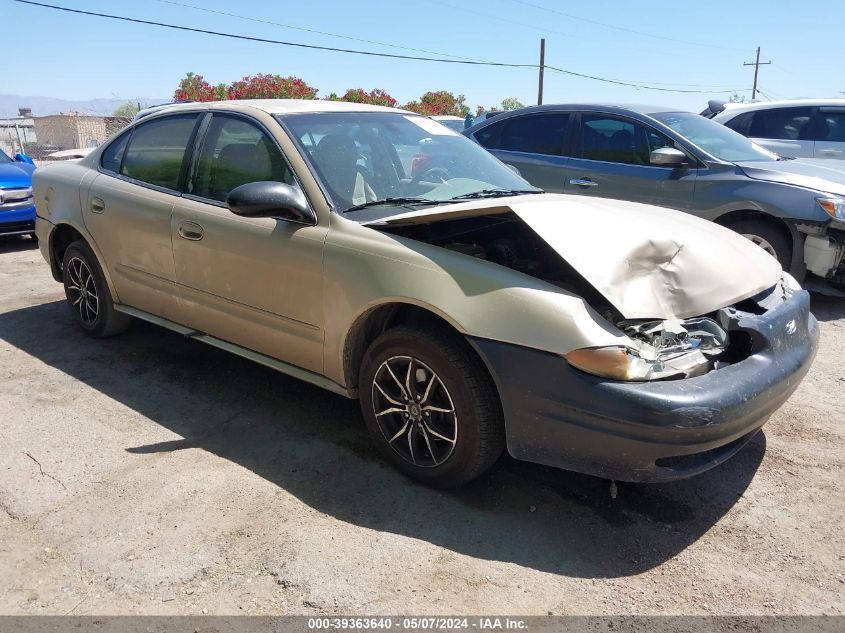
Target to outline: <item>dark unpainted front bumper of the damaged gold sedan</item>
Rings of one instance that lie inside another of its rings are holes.
[[[470,338],[499,389],[508,451],[522,459],[655,482],[704,472],[739,451],[807,373],[818,324],[806,291],[741,318],[753,353],[696,378],[617,382],[555,354]]]

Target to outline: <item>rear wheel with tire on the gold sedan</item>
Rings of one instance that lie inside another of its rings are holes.
[[[102,338],[129,327],[131,317],[114,309],[103,271],[87,243],[79,240],[67,247],[62,279],[67,302],[77,323],[88,334]]]

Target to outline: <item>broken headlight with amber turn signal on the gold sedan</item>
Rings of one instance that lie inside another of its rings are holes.
[[[632,341],[625,347],[587,347],[565,355],[573,367],[614,380],[691,378],[718,366],[728,333],[707,318],[623,321]]]

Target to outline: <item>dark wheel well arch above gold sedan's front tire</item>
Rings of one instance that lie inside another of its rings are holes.
[[[457,332],[443,317],[410,303],[390,303],[365,312],[353,323],[344,347],[343,373],[350,389],[358,388],[358,372],[367,348],[382,333],[398,325],[438,325]]]

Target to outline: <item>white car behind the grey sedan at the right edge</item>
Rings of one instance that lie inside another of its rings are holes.
[[[702,114],[781,156],[845,158],[845,99],[711,101]]]

